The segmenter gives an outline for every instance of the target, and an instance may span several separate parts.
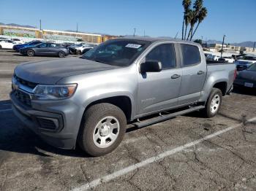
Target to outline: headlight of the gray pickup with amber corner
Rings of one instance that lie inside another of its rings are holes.
[[[33,98],[36,100],[58,100],[71,97],[78,85],[37,85]]]

